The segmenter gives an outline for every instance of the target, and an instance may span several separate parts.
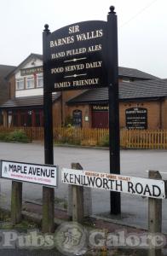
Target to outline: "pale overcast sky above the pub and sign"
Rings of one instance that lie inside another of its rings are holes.
[[[18,66],[42,54],[42,32],[118,15],[118,65],[167,78],[166,0],[1,0],[0,64]]]

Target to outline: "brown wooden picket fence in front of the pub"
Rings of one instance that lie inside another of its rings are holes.
[[[0,133],[23,130],[31,140],[43,141],[43,127],[0,127]],[[108,129],[54,128],[55,143],[83,146],[108,146]],[[167,130],[121,130],[122,148],[167,148]]]

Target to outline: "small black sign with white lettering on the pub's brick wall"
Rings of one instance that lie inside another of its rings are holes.
[[[147,129],[147,108],[128,108],[125,113],[128,129]]]

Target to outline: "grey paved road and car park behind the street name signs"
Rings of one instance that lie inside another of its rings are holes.
[[[122,150],[121,173],[124,175],[147,177],[147,170],[164,172],[163,178],[167,179],[167,150]],[[95,172],[109,172],[108,150],[82,149],[82,148],[54,148],[55,165],[70,167],[72,162],[79,162],[84,170]],[[43,164],[43,145],[0,143],[0,159],[16,160]],[[1,194],[3,204],[9,204],[6,200],[10,196],[10,184],[8,180],[1,180]],[[66,184],[60,183],[55,189],[55,195],[66,198]],[[108,213],[109,192],[93,189],[93,213]],[[42,186],[24,183],[23,198],[41,200]],[[163,201],[163,230],[167,233],[167,201]],[[147,199],[139,196],[122,195],[122,212],[124,222],[127,224],[140,224],[147,227]]]

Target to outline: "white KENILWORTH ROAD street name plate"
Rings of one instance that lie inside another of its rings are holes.
[[[153,198],[165,198],[164,181],[63,168],[62,183]]]

